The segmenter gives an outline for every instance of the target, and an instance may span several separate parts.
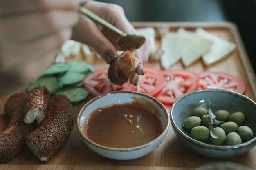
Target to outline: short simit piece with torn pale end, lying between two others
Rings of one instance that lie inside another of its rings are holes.
[[[28,124],[36,120],[37,124],[40,124],[45,118],[49,99],[50,93],[47,88],[40,86],[33,88],[27,95],[23,121]]]

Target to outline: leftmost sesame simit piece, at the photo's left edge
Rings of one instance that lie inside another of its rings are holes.
[[[26,135],[34,130],[34,124],[23,122],[23,108],[26,97],[22,93],[11,95],[4,104],[4,113],[11,119],[0,134],[0,162],[17,155],[26,144]]]

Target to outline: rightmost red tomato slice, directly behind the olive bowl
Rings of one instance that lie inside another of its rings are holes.
[[[219,88],[245,94],[245,82],[234,75],[205,71],[199,74],[199,88]]]

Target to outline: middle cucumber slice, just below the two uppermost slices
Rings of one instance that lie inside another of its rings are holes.
[[[68,71],[65,75],[59,77],[59,80],[63,85],[76,84],[81,82],[85,78],[85,73],[77,73]]]

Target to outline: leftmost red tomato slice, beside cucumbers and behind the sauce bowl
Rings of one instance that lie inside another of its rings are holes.
[[[108,79],[108,68],[102,68],[89,73],[83,80],[83,87],[93,96],[103,95],[111,91],[132,91],[134,89],[134,86],[130,85],[128,87],[128,83],[125,83],[122,86],[111,83]]]

